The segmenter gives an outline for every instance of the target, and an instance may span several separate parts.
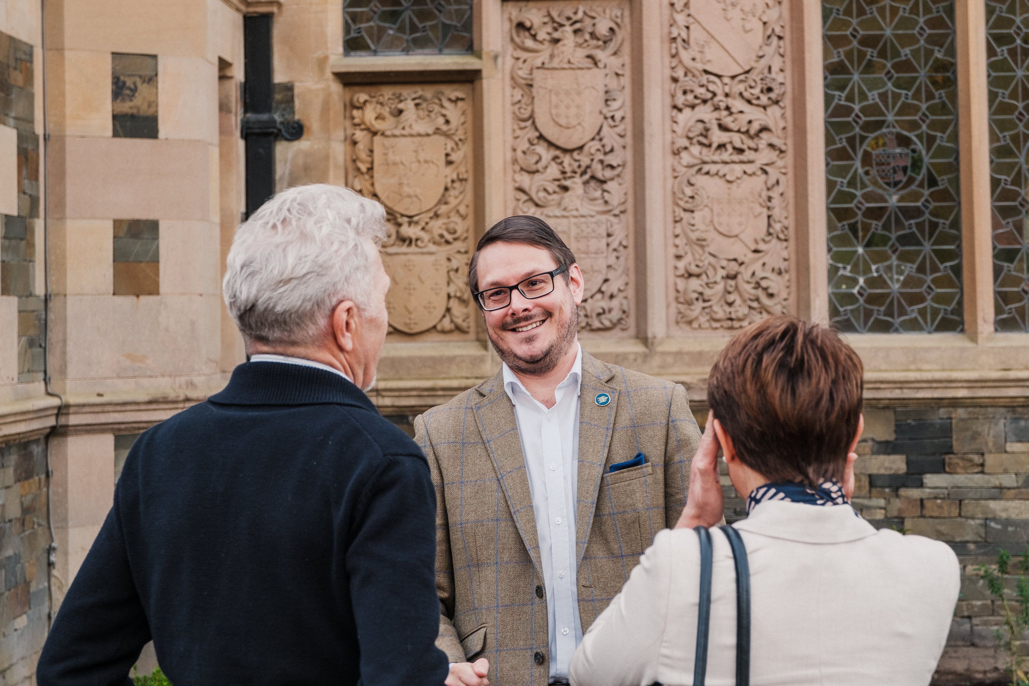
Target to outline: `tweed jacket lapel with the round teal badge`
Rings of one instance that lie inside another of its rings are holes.
[[[607,463],[607,450],[611,444],[611,431],[618,406],[618,391],[609,386],[614,372],[609,366],[582,351],[582,381],[579,392],[579,444],[578,482],[576,485],[575,508],[575,562],[582,561],[594,513],[597,510],[597,494],[600,479]],[[597,404],[597,396],[606,393],[611,401],[606,405]],[[628,456],[632,457],[632,456]],[[627,458],[628,459],[628,458]]]

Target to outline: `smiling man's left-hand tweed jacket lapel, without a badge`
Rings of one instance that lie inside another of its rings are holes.
[[[491,382],[482,384],[477,390],[483,397],[474,404],[475,422],[497,470],[497,478],[500,479],[500,488],[507,499],[511,516],[514,517],[514,526],[518,527],[526,550],[532,556],[536,573],[542,578],[539,535],[532,511],[529,474],[525,469],[525,456],[522,455],[522,441],[518,435],[514,405],[504,391],[503,372],[497,372]]]

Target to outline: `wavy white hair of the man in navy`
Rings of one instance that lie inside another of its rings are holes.
[[[240,224],[221,283],[243,335],[304,346],[343,300],[369,308],[376,252],[386,238],[379,203],[341,186],[296,186]]]

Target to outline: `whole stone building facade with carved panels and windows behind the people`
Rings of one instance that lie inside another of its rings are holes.
[[[1029,545],[1024,2],[0,7],[0,684],[31,683],[135,437],[245,359],[219,283],[257,186],[256,15],[274,112],[304,124],[275,187],[387,208],[384,414],[410,427],[498,368],[465,276],[511,214],[575,251],[583,346],[683,384],[699,419],[734,332],[830,324],[866,370],[855,505],[962,561],[936,679],[1002,678],[974,567]]]

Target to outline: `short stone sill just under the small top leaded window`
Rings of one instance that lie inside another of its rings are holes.
[[[329,71],[344,83],[474,81],[496,75],[497,55],[335,56]]]

